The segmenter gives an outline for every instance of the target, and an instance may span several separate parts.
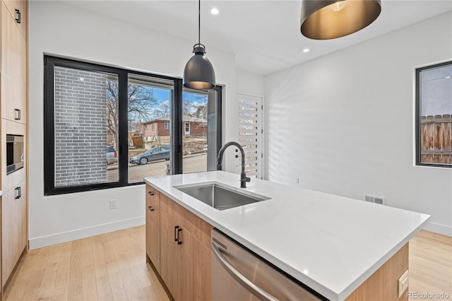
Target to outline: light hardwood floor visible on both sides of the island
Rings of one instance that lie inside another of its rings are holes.
[[[421,231],[410,241],[409,290],[447,293],[446,300],[452,300],[452,237]],[[144,226],[28,252],[4,297],[7,301],[169,300],[146,264]]]

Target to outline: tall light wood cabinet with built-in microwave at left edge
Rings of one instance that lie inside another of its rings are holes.
[[[28,1],[1,0],[0,10],[1,300],[11,273],[28,249]],[[7,143],[7,136],[20,137],[23,143],[16,147],[10,138]],[[11,171],[11,163],[18,163],[18,168]]]

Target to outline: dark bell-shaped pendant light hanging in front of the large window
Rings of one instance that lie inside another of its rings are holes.
[[[198,44],[193,47],[194,56],[184,69],[184,87],[195,90],[209,90],[215,87],[215,71],[204,55],[206,47],[201,44],[201,0],[198,0]]]

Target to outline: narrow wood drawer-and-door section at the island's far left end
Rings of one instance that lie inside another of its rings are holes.
[[[146,254],[160,272],[160,192],[146,185]]]

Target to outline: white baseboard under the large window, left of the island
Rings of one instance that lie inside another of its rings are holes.
[[[80,240],[81,238],[100,235],[117,230],[124,230],[127,228],[136,227],[145,224],[145,216],[138,218],[129,218],[128,220],[118,220],[113,223],[106,223],[102,225],[95,225],[92,227],[71,230],[67,232],[46,235],[42,237],[31,238],[28,241],[29,249],[39,249],[42,247],[52,246],[54,244],[61,244],[63,242],[71,242],[72,240]]]

